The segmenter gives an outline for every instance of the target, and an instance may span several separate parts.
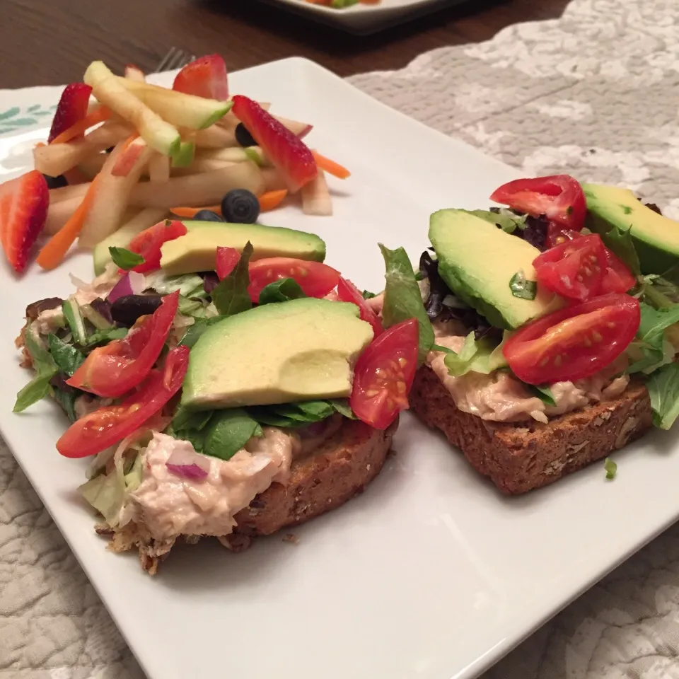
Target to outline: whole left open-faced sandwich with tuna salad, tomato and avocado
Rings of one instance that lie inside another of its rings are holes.
[[[240,550],[373,480],[408,406],[417,320],[383,330],[311,233],[168,221],[129,247],[31,304],[18,339],[36,374],[15,410],[62,405],[57,449],[92,458],[81,492],[113,550],[137,548],[150,573],[180,538]]]

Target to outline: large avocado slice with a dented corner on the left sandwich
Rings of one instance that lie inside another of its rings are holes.
[[[191,349],[182,405],[191,410],[347,397],[371,326],[352,303],[306,297],[229,316]]]

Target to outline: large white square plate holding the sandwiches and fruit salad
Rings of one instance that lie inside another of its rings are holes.
[[[516,177],[303,59],[233,74],[232,89],[312,122],[311,144],[351,168],[351,180],[332,181],[332,218],[288,208],[267,221],[317,231],[327,262],[368,289],[381,287],[378,241],[417,260],[432,211],[485,207]],[[38,137],[1,142],[4,173],[17,144]],[[233,555],[206,540],[173,550],[151,579],[93,533],[76,493],[85,465],[54,450],[57,408],[11,413],[28,378],[12,349],[25,305],[66,296],[69,271],[90,278],[90,258],[21,281],[0,267],[0,427],[151,679],[470,678],[679,514],[669,434],[616,455],[615,482],[600,463],[508,499],[405,415],[383,474],[296,529],[298,545],[274,536]]]

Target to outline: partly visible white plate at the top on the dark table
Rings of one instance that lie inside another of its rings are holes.
[[[402,21],[436,11],[464,0],[382,0],[380,4],[356,4],[344,9],[314,5],[304,0],[265,0],[269,4],[282,4],[299,14],[329,23],[349,31],[366,35],[389,28]]]

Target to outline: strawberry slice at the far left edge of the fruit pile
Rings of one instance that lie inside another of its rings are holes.
[[[0,186],[0,243],[18,273],[28,262],[30,248],[45,226],[50,191],[37,170]]]

